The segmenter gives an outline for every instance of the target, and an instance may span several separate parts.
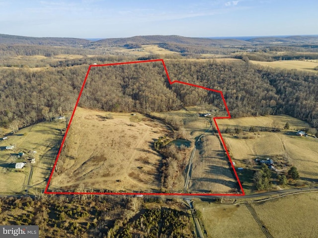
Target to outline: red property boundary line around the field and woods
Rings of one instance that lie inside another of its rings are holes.
[[[50,185],[50,182],[51,182],[51,179],[52,179],[52,175],[54,173],[54,169],[56,167],[56,164],[59,160],[59,156],[61,154],[61,151],[62,151],[62,148],[63,148],[63,145],[64,145],[64,142],[65,142],[65,139],[66,139],[66,136],[68,134],[68,131],[69,131],[69,128],[70,128],[70,125],[71,125],[71,122],[73,120],[73,117],[74,117],[74,114],[75,114],[75,111],[76,111],[76,108],[78,107],[78,104],[79,104],[79,99],[80,99],[80,96],[82,94],[82,91],[84,89],[84,86],[85,86],[85,83],[86,83],[86,80],[87,80],[87,77],[88,77],[88,74],[89,74],[89,71],[90,71],[90,68],[91,67],[99,67],[99,66],[109,66],[109,65],[119,65],[119,64],[131,64],[131,63],[146,63],[146,62],[156,62],[156,61],[160,61],[162,62],[162,65],[164,67],[164,71],[167,75],[167,78],[169,80],[169,83],[170,84],[173,84],[173,83],[181,83],[181,84],[185,84],[185,85],[190,85],[190,86],[193,86],[193,87],[197,87],[197,88],[202,88],[202,89],[205,89],[205,90],[209,90],[209,91],[213,91],[213,92],[216,92],[216,93],[220,93],[221,94],[221,97],[222,97],[222,100],[224,102],[224,105],[225,105],[225,108],[226,108],[226,111],[228,113],[228,117],[215,117],[213,118],[214,120],[214,123],[217,127],[217,130],[219,132],[219,135],[220,135],[220,138],[221,138],[221,141],[223,143],[223,146],[224,146],[224,149],[228,155],[228,158],[229,158],[229,161],[231,163],[231,166],[232,166],[232,169],[234,171],[234,174],[239,182],[239,187],[242,191],[242,194],[214,194],[214,193],[131,193],[131,192],[50,192],[48,191],[48,188],[49,188],[49,185]],[[78,100],[76,101],[76,104],[75,104],[75,107],[74,107],[74,110],[73,110],[73,113],[72,113],[72,116],[71,116],[71,119],[69,121],[69,125],[68,125],[68,128],[66,129],[66,132],[65,132],[65,135],[64,135],[64,138],[62,140],[62,143],[61,143],[61,147],[60,147],[60,150],[59,150],[59,153],[56,157],[56,160],[55,160],[55,163],[54,163],[54,166],[53,166],[53,169],[51,171],[51,174],[50,174],[50,177],[49,177],[49,180],[46,184],[46,187],[45,187],[45,190],[44,190],[44,193],[46,194],[68,194],[68,195],[76,195],[76,194],[94,194],[94,195],[176,195],[176,196],[244,196],[245,195],[245,192],[243,190],[243,187],[242,187],[242,184],[239,180],[239,177],[238,177],[238,174],[233,166],[233,163],[232,163],[232,159],[231,159],[231,156],[229,154],[229,151],[225,145],[225,142],[224,142],[224,139],[222,137],[222,134],[221,134],[221,131],[219,129],[219,126],[218,126],[218,123],[217,123],[217,119],[230,119],[231,118],[231,115],[230,115],[230,112],[229,112],[229,109],[228,109],[228,106],[226,104],[226,101],[224,99],[224,96],[223,96],[223,93],[222,91],[219,91],[219,90],[215,90],[215,89],[211,89],[211,88],[206,88],[206,87],[203,87],[203,86],[200,86],[200,85],[195,85],[195,84],[191,84],[191,83],[186,83],[186,82],[182,82],[182,81],[171,81],[170,80],[170,77],[169,77],[169,74],[168,74],[168,70],[165,66],[165,63],[162,59],[158,59],[158,60],[143,60],[143,61],[131,61],[131,62],[119,62],[119,63],[107,63],[107,64],[97,64],[97,65],[89,65],[88,67],[88,70],[87,70],[87,73],[86,73],[86,76],[85,76],[85,79],[84,79],[84,82],[81,86],[81,89],[80,89],[80,92],[79,92],[79,97],[78,97]]]

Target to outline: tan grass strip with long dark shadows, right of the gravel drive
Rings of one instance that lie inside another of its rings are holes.
[[[195,193],[233,193],[237,179],[229,167],[229,159],[216,135],[201,138],[192,165],[189,191]]]

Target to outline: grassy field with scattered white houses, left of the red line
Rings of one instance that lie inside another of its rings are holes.
[[[23,189],[33,193],[36,189],[45,187],[63,137],[61,129],[64,128],[65,120],[40,122],[22,128],[15,134],[9,134],[7,140],[0,141],[1,193],[21,192]],[[14,145],[14,150],[5,150],[8,145]],[[28,153],[29,151],[31,153]],[[17,158],[19,152],[24,152],[25,155]],[[33,156],[35,164],[31,164],[27,159]],[[15,169],[14,165],[18,162],[26,162],[25,167],[21,170]]]

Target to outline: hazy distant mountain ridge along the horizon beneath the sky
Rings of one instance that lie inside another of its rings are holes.
[[[201,47],[237,47],[253,46],[261,44],[311,44],[318,45],[318,35],[312,36],[286,36],[286,37],[254,37],[243,39],[244,37],[221,38],[199,38],[183,37],[177,35],[150,35],[133,36],[127,38],[107,38],[97,41],[79,38],[59,38],[59,37],[26,37],[0,34],[0,44],[6,45],[40,45],[40,46],[69,46],[69,47],[123,47],[127,44],[152,45],[152,44],[178,44],[179,46],[201,46]]]

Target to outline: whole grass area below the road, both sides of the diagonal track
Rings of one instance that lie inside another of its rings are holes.
[[[251,206],[274,238],[316,238],[317,204],[318,194],[311,192],[251,203]],[[243,204],[197,202],[194,207],[202,212],[202,221],[208,237],[265,237]]]

